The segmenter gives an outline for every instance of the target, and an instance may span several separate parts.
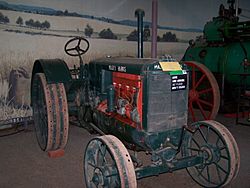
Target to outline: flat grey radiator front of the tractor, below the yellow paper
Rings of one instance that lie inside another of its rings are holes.
[[[148,78],[148,132],[161,132],[185,125],[187,89],[171,92],[171,76],[166,73],[151,73]]]

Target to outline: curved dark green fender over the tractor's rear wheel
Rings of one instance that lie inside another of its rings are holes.
[[[61,59],[36,60],[32,69],[31,85],[33,84],[33,78],[36,73],[44,73],[48,84],[53,84],[53,83],[65,84],[72,80],[70,70],[67,64]],[[31,96],[32,96],[32,89],[31,89]]]

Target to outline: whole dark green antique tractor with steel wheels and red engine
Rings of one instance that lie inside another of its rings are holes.
[[[88,188],[135,188],[137,179],[184,168],[205,187],[237,176],[231,133],[212,120],[187,125],[188,73],[178,62],[107,57],[84,64],[88,48],[82,37],[66,43],[66,53],[80,58],[71,70],[60,59],[35,61],[31,96],[42,150],[64,149],[71,119],[102,135],[85,150]],[[149,160],[140,159],[144,153]]]

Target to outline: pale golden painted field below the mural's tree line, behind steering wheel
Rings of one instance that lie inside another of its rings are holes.
[[[66,37],[29,35],[0,30],[0,75],[7,78],[12,68],[19,66],[31,71],[33,62],[38,58],[61,58],[68,65],[78,64],[79,59],[67,56],[64,45],[69,40]],[[137,54],[137,43],[121,40],[89,39],[90,49],[84,55],[84,60],[90,60],[111,56],[134,56]],[[170,54],[180,59],[187,43],[158,43],[158,55]],[[145,57],[150,57],[151,43],[144,43]]]

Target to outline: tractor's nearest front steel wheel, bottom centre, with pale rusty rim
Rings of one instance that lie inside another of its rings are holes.
[[[85,150],[84,176],[88,188],[136,188],[133,162],[122,142],[112,135],[92,139]]]

